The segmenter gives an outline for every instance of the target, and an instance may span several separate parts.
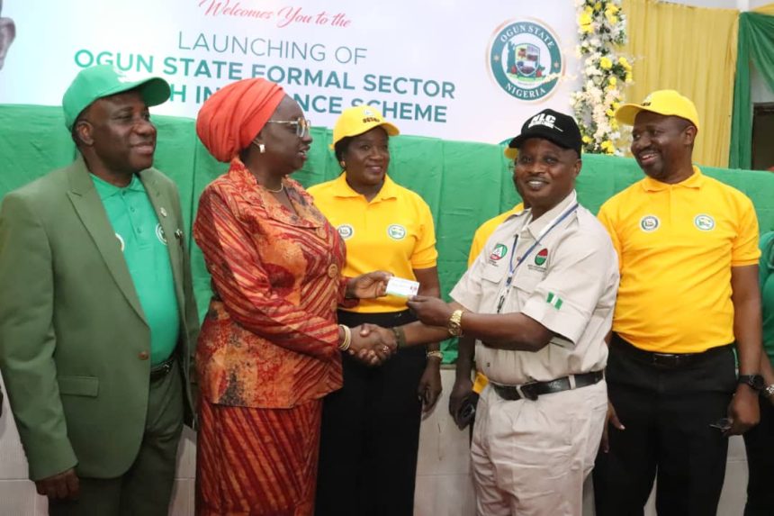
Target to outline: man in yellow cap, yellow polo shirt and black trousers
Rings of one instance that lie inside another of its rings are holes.
[[[758,222],[750,199],[691,164],[699,122],[688,98],[657,91],[616,117],[634,125],[646,177],[599,211],[621,283],[597,514],[642,514],[656,475],[660,516],[716,514],[727,437],[759,419]]]

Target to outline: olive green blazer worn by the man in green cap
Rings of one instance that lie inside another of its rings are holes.
[[[165,233],[184,228],[175,184],[139,172]],[[187,423],[199,323],[185,239],[168,239],[175,277]],[[125,473],[148,408],[150,330],[102,201],[78,157],[0,205],[0,371],[31,480],[76,466]]]

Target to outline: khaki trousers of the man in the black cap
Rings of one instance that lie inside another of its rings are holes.
[[[604,380],[536,401],[481,394],[471,462],[481,516],[581,516],[608,411]]]

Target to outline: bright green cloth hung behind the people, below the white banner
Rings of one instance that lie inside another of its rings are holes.
[[[204,186],[227,169],[215,161],[196,138],[193,120],[154,116],[158,145],[155,166],[175,180],[183,203],[192,253],[193,286],[199,314],[210,301],[210,276],[202,252],[193,245],[190,223]],[[312,130],[314,142],[306,166],[293,175],[304,186],[337,177],[340,173],[328,149],[330,131]],[[478,226],[519,201],[508,163],[498,145],[447,141],[416,136],[397,136],[390,143],[391,177],[422,195],[436,222],[438,274],[445,295],[464,273],[473,232]],[[65,129],[59,107],[0,105],[0,198],[40,177],[67,166],[75,158],[75,146]],[[774,230],[774,174],[702,167],[750,196],[761,232]],[[584,155],[577,190],[581,203],[596,213],[611,195],[643,177],[634,159]],[[456,357],[455,341],[443,344],[445,361]]]

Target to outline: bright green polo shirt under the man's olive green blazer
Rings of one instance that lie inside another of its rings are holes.
[[[172,354],[180,330],[166,235],[139,177],[132,176],[123,188],[91,177],[150,326],[150,363],[155,366]]]

